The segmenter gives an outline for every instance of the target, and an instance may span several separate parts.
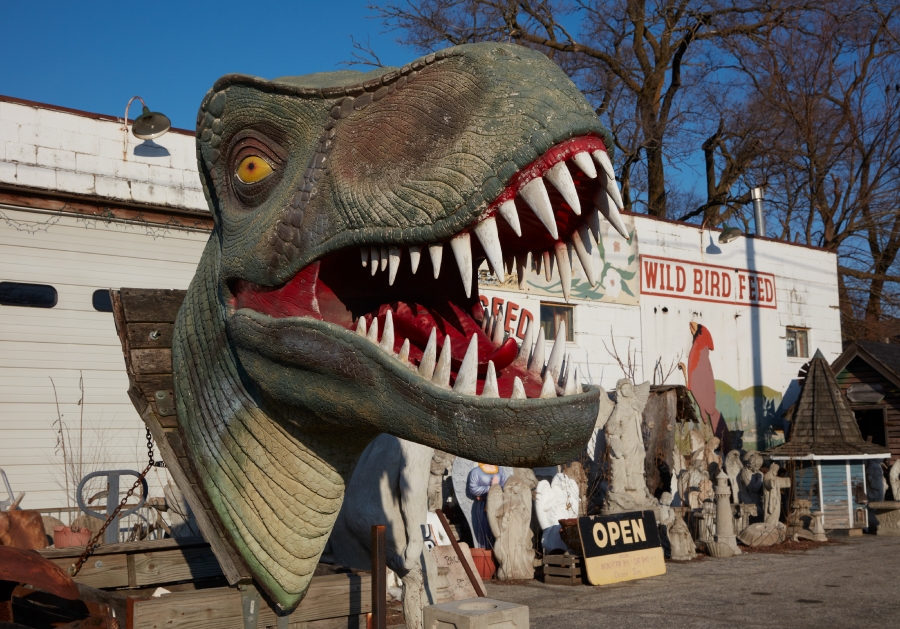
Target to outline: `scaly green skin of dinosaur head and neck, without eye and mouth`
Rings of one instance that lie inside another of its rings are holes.
[[[282,607],[303,598],[375,435],[502,465],[559,463],[590,436],[599,391],[463,396],[341,326],[235,311],[228,281],[279,286],[333,251],[447,240],[520,168],[585,134],[612,145],[562,71],[503,44],[367,74],[229,75],[207,94],[197,146],[216,226],[176,323],[178,416],[203,491]],[[233,180],[234,156],[260,137],[279,168],[253,194]]]

